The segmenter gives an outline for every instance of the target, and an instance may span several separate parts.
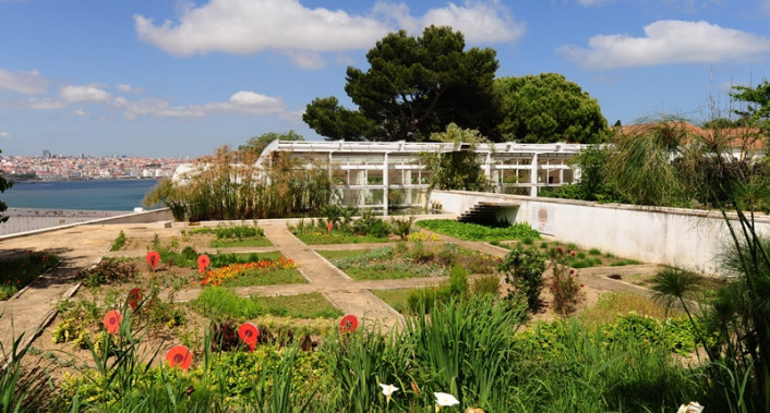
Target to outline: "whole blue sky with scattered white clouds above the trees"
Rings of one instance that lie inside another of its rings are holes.
[[[770,0],[0,0],[3,156],[190,156],[294,130],[388,32],[450,25],[612,124],[707,120],[770,73]],[[709,97],[715,105],[710,105]]]

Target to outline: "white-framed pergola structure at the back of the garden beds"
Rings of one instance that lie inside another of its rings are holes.
[[[540,187],[579,178],[567,161],[585,145],[480,144],[476,153],[493,192],[537,196]],[[273,154],[290,154],[305,165],[325,165],[345,205],[359,208],[425,207],[430,172],[421,154],[469,150],[469,144],[418,142],[274,141],[257,166]]]

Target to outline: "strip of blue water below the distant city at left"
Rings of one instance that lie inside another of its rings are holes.
[[[125,210],[143,207],[157,180],[89,180],[16,182],[0,193],[9,208]]]

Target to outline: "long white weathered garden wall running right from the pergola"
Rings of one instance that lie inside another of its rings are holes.
[[[538,211],[546,210],[545,233],[582,248],[599,248],[617,256],[655,264],[675,265],[702,274],[719,275],[718,255],[732,244],[727,227],[718,211],[651,208],[619,204],[595,204],[570,199],[433,191],[431,202],[457,215],[478,202],[516,203],[506,209],[514,222],[542,227]],[[756,218],[757,231],[770,234],[770,218]]]

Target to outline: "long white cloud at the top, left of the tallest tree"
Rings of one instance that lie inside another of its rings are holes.
[[[308,9],[297,0],[212,0],[185,8],[178,23],[134,15],[140,39],[172,54],[265,49],[335,51],[371,46],[388,27],[341,10]]]

